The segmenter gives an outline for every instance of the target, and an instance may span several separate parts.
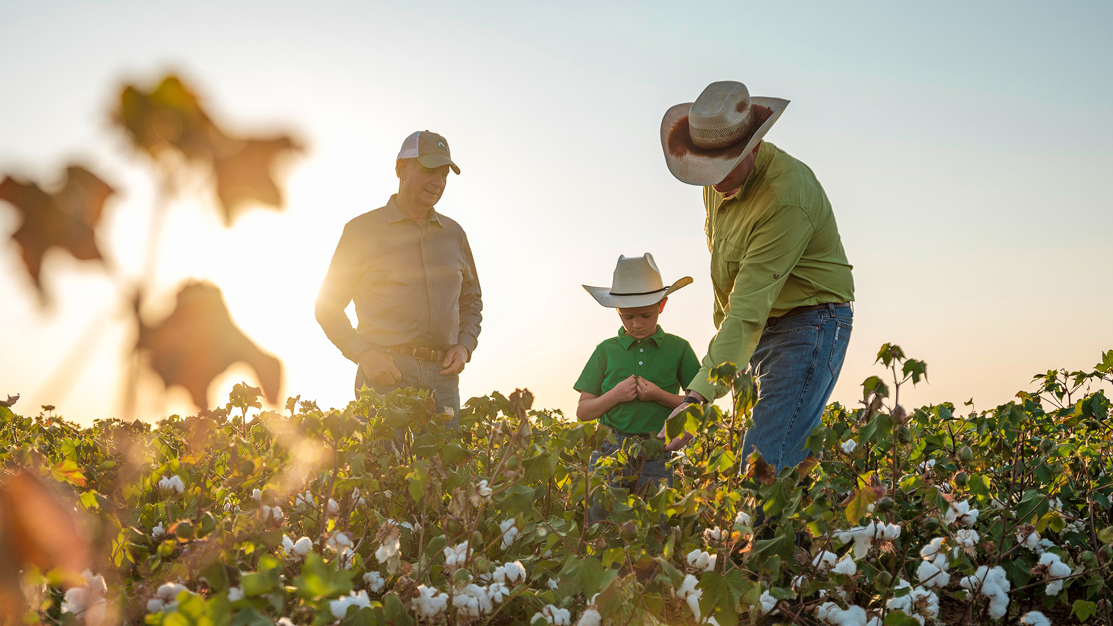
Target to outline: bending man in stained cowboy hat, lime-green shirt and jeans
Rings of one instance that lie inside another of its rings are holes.
[[[851,266],[823,187],[808,166],[762,141],[786,106],[751,97],[740,82],[712,82],[661,121],[669,171],[703,187],[715,287],[718,331],[684,400],[723,396],[726,386],[708,379],[710,368],[749,364],[761,395],[742,449],[757,449],[776,467],[808,454],[846,356],[854,300]]]

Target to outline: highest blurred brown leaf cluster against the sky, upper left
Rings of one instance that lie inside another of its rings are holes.
[[[225,132],[179,78],[168,76],[150,91],[125,87],[115,120],[151,157],[174,152],[209,168],[226,226],[252,202],[282,207],[274,165],[279,156],[299,150],[298,143],[288,136],[263,139]]]

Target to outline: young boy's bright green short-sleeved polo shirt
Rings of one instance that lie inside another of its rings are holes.
[[[670,394],[679,394],[699,371],[699,359],[688,341],[661,327],[644,339],[634,339],[619,328],[617,337],[595,346],[583,366],[577,391],[602,396],[631,375],[646,378]],[[659,403],[631,400],[603,415],[603,424],[627,435],[656,435],[672,409]]]

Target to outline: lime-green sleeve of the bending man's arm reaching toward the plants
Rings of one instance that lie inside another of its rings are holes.
[[[759,220],[746,241],[733,288],[718,332],[689,389],[708,399],[722,397],[726,385],[708,380],[711,368],[731,361],[743,369],[757,348],[769,311],[815,230],[800,207],[779,206]]]

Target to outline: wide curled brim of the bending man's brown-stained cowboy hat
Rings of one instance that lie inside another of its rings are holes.
[[[752,105],[768,108],[771,112],[761,122],[749,140],[727,146],[718,150],[703,150],[691,143],[688,135],[688,111],[691,102],[677,105],[664,112],[661,120],[661,149],[664,150],[664,162],[669,171],[681,182],[688,185],[718,185],[746,158],[759,141],[769,132],[780,115],[785,112],[788,100],[752,96]]]

